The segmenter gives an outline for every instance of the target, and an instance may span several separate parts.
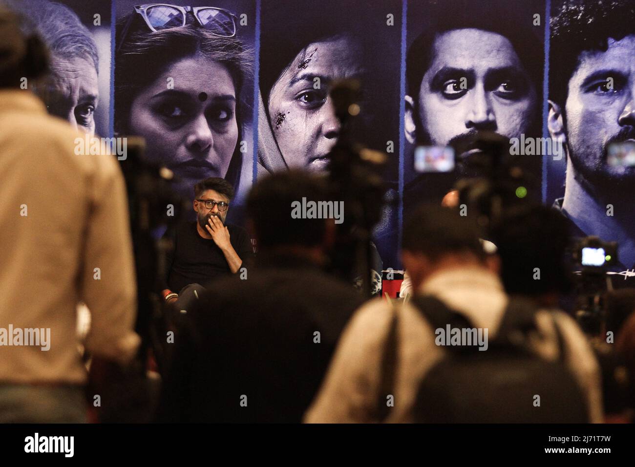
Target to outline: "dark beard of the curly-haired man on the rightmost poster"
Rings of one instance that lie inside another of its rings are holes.
[[[635,188],[635,167],[612,167],[608,165],[608,148],[612,144],[624,143],[628,139],[635,139],[635,127],[624,126],[620,131],[610,137],[602,144],[601,158],[595,154],[579,154],[571,144],[567,142],[567,148],[571,158],[571,163],[575,169],[577,179],[587,189],[587,191],[599,191],[603,193],[614,193],[615,189]],[[591,152],[583,149],[580,152]],[[582,157],[581,157],[582,156]],[[586,157],[585,157],[586,156]]]

